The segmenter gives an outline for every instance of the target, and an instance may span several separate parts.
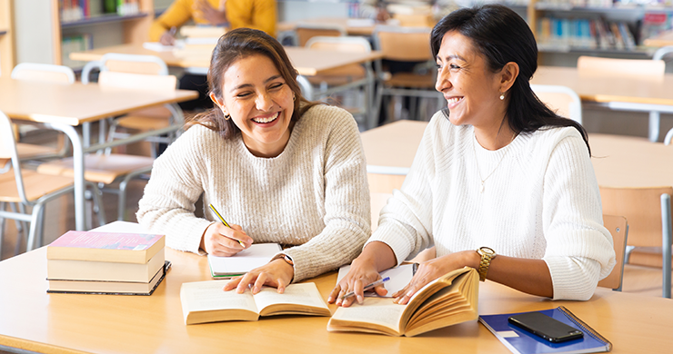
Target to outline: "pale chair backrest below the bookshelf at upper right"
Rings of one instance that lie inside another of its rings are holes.
[[[664,79],[663,60],[614,59],[582,55],[578,58],[578,74],[585,77],[629,76],[645,80]]]

